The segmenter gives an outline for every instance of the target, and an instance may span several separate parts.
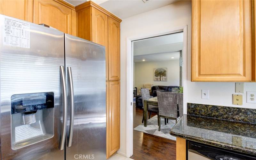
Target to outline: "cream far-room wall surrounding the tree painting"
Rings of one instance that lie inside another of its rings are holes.
[[[165,60],[154,62],[135,63],[135,86],[138,90],[144,87],[144,84],[153,85],[180,85],[180,60]],[[134,67],[134,66],[133,66]],[[167,68],[167,81],[154,81],[154,68]],[[138,92],[139,93],[139,92]]]

